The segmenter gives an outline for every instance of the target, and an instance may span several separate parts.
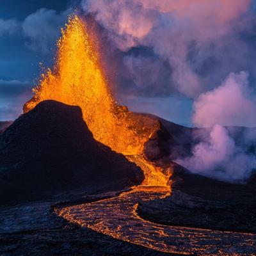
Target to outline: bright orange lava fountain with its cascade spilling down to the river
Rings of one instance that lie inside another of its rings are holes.
[[[169,188],[170,170],[155,166],[143,155],[143,145],[159,129],[159,122],[116,104],[100,66],[94,37],[89,35],[81,18],[74,15],[68,19],[57,42],[54,67],[42,74],[33,89],[33,99],[24,105],[24,112],[49,99],[80,106],[95,140],[142,168],[143,185]]]

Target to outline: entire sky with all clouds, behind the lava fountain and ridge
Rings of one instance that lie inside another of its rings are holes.
[[[68,14],[99,26],[106,74],[132,111],[187,126],[256,127],[251,0],[0,0],[0,120],[51,67]],[[104,42],[104,43],[103,43]]]

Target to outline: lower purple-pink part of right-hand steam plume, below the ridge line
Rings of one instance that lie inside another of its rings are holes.
[[[253,134],[250,141],[255,138]],[[256,157],[247,154],[243,147],[237,147],[228,130],[221,125],[214,125],[209,139],[195,145],[192,153],[191,157],[177,159],[177,163],[191,172],[229,182],[246,182],[256,167]]]

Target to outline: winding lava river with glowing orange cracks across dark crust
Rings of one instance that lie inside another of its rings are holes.
[[[166,191],[162,187],[137,186],[113,198],[65,207],[58,215],[104,235],[161,252],[256,255],[255,234],[159,225],[138,216],[140,202],[164,196]]]

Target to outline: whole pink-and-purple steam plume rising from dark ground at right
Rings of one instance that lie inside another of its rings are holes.
[[[248,179],[256,169],[256,129],[234,125],[256,126],[256,99],[251,95],[247,72],[232,73],[221,86],[202,93],[194,103],[193,120],[196,125],[213,127],[195,132],[200,143],[193,147],[192,156],[177,162],[220,180]]]

